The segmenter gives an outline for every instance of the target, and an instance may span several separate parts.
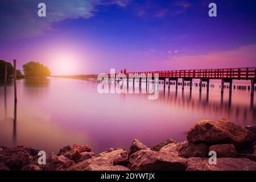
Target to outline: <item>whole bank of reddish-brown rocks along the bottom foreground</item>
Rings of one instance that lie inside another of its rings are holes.
[[[217,164],[209,163],[209,151]],[[187,140],[173,139],[148,148],[134,139],[130,150],[110,148],[94,154],[90,146],[74,144],[46,155],[38,164],[39,150],[26,146],[0,147],[0,171],[256,171],[256,127],[241,127],[221,118],[195,123]]]

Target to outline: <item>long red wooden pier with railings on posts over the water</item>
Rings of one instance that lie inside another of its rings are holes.
[[[182,88],[184,89],[184,82],[189,81],[192,89],[192,80],[200,79],[200,90],[202,87],[202,82],[207,82],[207,90],[209,90],[209,80],[221,80],[221,92],[224,92],[224,83],[229,82],[230,92],[232,92],[232,81],[233,80],[251,80],[251,94],[254,94],[254,84],[256,80],[256,67],[249,68],[223,68],[223,69],[187,69],[187,70],[175,70],[175,71],[151,71],[151,72],[126,72],[124,71],[121,74],[108,74],[109,79],[132,79],[133,83],[135,79],[139,80],[141,85],[142,79],[148,82],[148,77],[154,78],[156,74],[159,77],[159,80],[164,81],[164,87],[166,86],[166,79],[168,79],[168,87],[170,88],[170,81],[176,81],[180,78],[182,80]],[[82,75],[80,78],[85,80],[94,80],[99,81],[103,78],[98,78],[98,75]],[[129,81],[127,81],[127,84]]]

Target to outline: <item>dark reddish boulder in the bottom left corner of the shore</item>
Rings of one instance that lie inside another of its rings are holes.
[[[38,150],[26,146],[5,148],[0,150],[0,163],[3,163],[10,170],[20,170],[29,164],[32,156],[38,154]]]

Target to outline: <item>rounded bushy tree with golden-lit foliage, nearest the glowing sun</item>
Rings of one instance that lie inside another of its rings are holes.
[[[51,75],[49,68],[39,62],[34,61],[24,64],[23,72],[27,77],[47,77]]]

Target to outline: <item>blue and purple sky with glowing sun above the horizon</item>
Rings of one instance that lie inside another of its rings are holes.
[[[37,6],[46,3],[47,17]],[[52,75],[256,67],[256,2],[0,2],[0,59],[47,65]]]

